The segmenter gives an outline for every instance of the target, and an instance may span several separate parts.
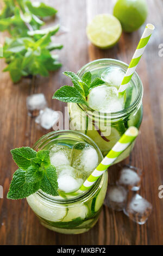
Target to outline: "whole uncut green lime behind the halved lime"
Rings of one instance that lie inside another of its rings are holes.
[[[118,0],[113,14],[121,22],[123,31],[133,32],[146,20],[148,7],[146,0]]]

